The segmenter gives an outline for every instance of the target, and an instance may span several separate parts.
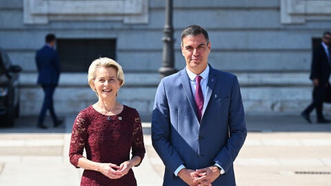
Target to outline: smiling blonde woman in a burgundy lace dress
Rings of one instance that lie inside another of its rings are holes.
[[[146,150],[137,110],[116,100],[124,83],[121,65],[108,58],[93,61],[88,83],[99,100],[74,121],[70,163],[84,169],[81,185],[137,185],[131,168],[140,165]]]

